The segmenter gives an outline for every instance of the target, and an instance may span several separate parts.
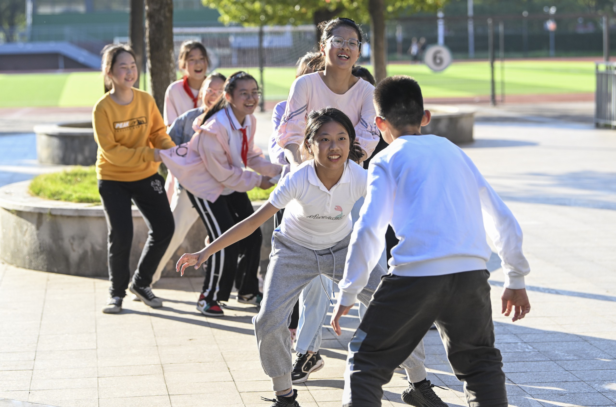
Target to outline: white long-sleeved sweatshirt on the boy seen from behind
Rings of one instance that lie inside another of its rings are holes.
[[[340,304],[354,304],[367,284],[387,224],[400,240],[389,260],[394,275],[485,269],[492,253],[487,232],[503,259],[505,288],[524,288],[530,268],[520,226],[471,159],[444,137],[405,135],[370,161],[367,198],[338,284]]]

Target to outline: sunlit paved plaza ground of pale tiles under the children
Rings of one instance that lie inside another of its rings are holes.
[[[500,315],[500,259],[493,254],[488,263],[509,403],[614,406],[616,132],[593,128],[591,103],[476,108],[476,142],[464,151],[519,220],[532,270],[532,310],[511,323]],[[263,144],[269,123],[261,118]],[[31,128],[11,126],[0,135],[0,183],[52,171],[35,162]],[[0,264],[0,399],[59,407],[270,405],[261,400],[273,393],[257,355],[257,308],[232,299],[224,318],[207,318],[195,310],[200,287],[199,278],[166,278],[155,286],[163,308],[127,297],[123,313],[105,315],[108,281]],[[302,407],[341,405],[357,307],[351,314],[342,318],[341,337],[323,326],[325,368],[296,386]],[[428,379],[446,389],[437,394],[466,406],[438,332],[429,331],[425,344]],[[395,373],[383,406],[404,405],[406,386]]]

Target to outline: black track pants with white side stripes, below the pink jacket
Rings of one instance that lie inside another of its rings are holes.
[[[221,195],[214,202],[197,198],[190,192],[188,198],[208,229],[210,241],[214,241],[254,212],[253,204],[245,192]],[[233,281],[240,295],[259,292],[257,270],[261,260],[261,241],[261,228],[257,228],[247,238],[222,249],[208,259],[202,290],[206,301],[229,300]]]

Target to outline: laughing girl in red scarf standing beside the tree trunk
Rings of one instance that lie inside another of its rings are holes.
[[[164,93],[165,126],[171,126],[177,116],[201,105],[199,89],[208,71],[208,51],[201,42],[185,41],[180,46],[177,66],[184,71],[184,76],[169,85]]]

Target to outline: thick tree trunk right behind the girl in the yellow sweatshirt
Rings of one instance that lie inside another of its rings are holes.
[[[173,50],[173,0],[145,0],[145,38],[150,89],[158,110],[164,92],[177,79]]]

